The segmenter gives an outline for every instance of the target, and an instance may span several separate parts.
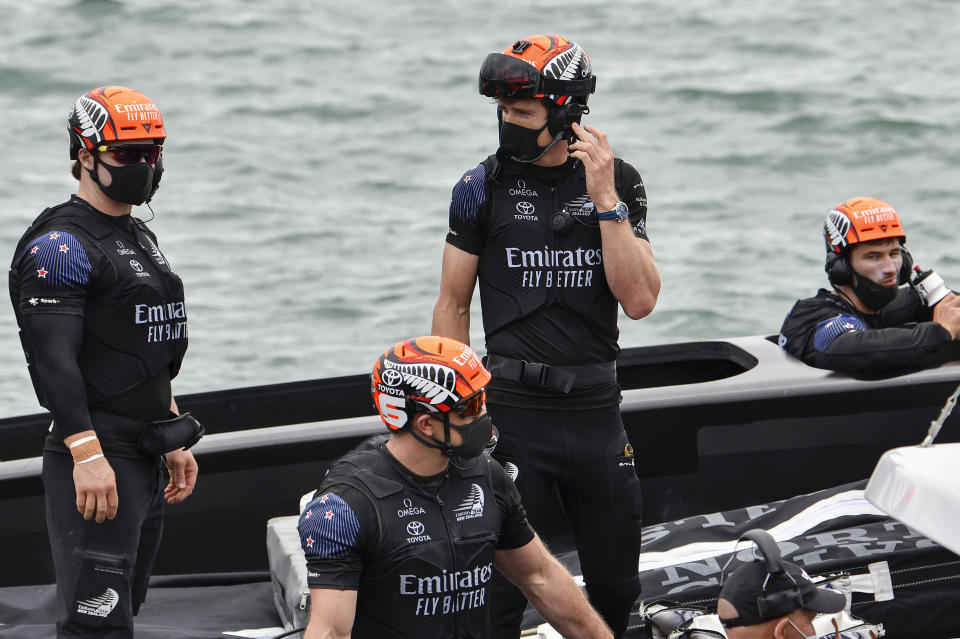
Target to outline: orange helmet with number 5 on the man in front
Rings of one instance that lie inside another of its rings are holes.
[[[450,337],[414,337],[377,359],[370,392],[383,423],[399,431],[416,413],[480,414],[490,377],[466,344]]]

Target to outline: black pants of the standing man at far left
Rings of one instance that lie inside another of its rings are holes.
[[[73,459],[44,451],[47,531],[57,574],[58,639],[128,639],[163,529],[158,457],[109,457],[120,506],[98,524],[77,511]]]

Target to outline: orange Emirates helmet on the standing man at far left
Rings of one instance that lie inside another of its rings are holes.
[[[99,87],[77,98],[67,116],[70,159],[80,147],[92,151],[100,144],[167,136],[163,116],[153,100],[127,87]]]

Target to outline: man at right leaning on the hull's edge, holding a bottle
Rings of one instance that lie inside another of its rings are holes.
[[[914,267],[892,206],[874,197],[841,202],[827,213],[823,237],[833,291],[794,304],[781,347],[810,366],[860,376],[960,357],[960,297]]]

